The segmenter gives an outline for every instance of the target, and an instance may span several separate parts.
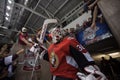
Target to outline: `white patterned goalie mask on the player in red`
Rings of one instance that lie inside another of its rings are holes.
[[[65,35],[65,31],[62,28],[54,28],[51,32],[52,34],[52,42],[59,42]]]

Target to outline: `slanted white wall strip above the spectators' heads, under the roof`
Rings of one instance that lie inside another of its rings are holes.
[[[88,18],[91,17],[91,11],[88,13],[82,14],[82,16],[78,17],[74,21],[72,21],[70,24],[68,24],[64,29],[69,28],[76,28],[76,24],[79,24],[80,26],[83,24],[84,21],[88,20]]]

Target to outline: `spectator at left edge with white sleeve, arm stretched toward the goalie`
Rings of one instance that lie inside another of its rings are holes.
[[[0,80],[6,80],[6,78],[11,78],[13,76],[15,70],[15,60],[17,59],[18,55],[23,52],[23,49],[19,50],[16,54],[10,55],[10,49],[7,49],[8,46],[4,45],[2,50],[4,52],[0,57]],[[8,79],[7,79],[8,80]]]

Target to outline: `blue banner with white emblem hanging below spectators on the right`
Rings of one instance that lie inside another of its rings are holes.
[[[82,28],[77,34],[76,38],[82,45],[89,45],[94,42],[111,37],[112,34],[106,23],[96,23],[96,27],[92,29],[91,27]]]

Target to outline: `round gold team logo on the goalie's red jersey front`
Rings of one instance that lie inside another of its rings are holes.
[[[55,68],[59,64],[58,57],[54,52],[51,52],[51,54],[50,54],[50,63],[52,65],[52,67],[55,67]]]

